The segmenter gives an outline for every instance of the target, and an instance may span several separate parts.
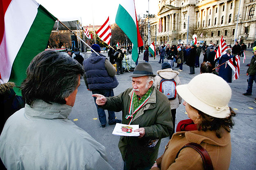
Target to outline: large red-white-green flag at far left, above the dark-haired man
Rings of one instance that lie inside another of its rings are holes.
[[[0,76],[4,82],[17,86],[23,82],[31,60],[46,48],[56,20],[34,0],[0,0]]]

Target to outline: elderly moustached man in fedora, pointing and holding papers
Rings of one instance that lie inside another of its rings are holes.
[[[107,110],[120,112],[122,124],[138,124],[139,137],[121,136],[118,143],[124,160],[124,170],[147,170],[154,164],[161,139],[172,131],[172,116],[168,98],[153,86],[152,66],[139,63],[132,75],[132,88],[118,96],[97,97],[96,104]]]

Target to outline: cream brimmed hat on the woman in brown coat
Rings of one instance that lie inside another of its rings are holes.
[[[217,118],[230,115],[228,103],[232,91],[227,82],[212,73],[195,76],[188,84],[176,87],[179,95],[191,106]]]

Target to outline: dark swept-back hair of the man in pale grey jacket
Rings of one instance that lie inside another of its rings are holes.
[[[20,85],[25,102],[32,106],[36,99],[47,103],[66,104],[78,86],[82,66],[66,53],[43,51],[36,55],[27,68],[27,78]]]

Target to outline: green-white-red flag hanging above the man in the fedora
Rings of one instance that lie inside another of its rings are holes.
[[[116,24],[124,31],[131,40],[132,60],[136,62],[138,58],[138,47],[143,46],[138,28],[137,15],[134,0],[120,0],[118,11],[116,13]]]

